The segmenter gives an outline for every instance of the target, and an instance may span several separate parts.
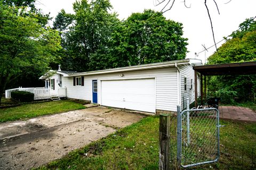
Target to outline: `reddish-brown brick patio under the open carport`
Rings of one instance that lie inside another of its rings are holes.
[[[220,106],[220,118],[225,120],[256,122],[256,113],[249,108],[237,106]]]

